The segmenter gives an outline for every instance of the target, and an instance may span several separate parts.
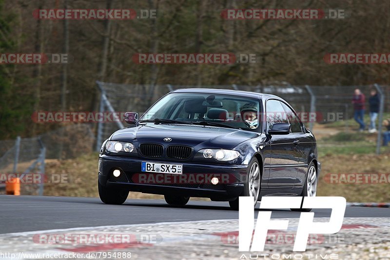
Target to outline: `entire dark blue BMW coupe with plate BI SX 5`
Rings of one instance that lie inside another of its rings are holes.
[[[250,196],[315,196],[321,164],[313,134],[283,99],[268,94],[178,89],[104,141],[98,191],[122,204],[129,191],[229,201]],[[306,211],[307,209],[298,209]]]

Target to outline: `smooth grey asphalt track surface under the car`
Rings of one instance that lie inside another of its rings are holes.
[[[255,218],[257,212],[255,210]],[[330,217],[328,209],[314,209],[315,218]],[[273,218],[298,218],[300,213],[273,210]],[[389,217],[390,208],[347,207],[345,217]],[[238,211],[228,202],[190,200],[172,207],[165,200],[126,200],[103,204],[98,198],[0,195],[0,234],[48,229],[177,222],[233,220]]]

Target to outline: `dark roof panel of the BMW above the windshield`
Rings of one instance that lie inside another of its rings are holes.
[[[254,99],[277,99],[282,100],[281,98],[271,95],[271,94],[263,94],[258,92],[250,92],[250,91],[242,91],[242,90],[233,90],[233,89],[215,89],[215,88],[180,88],[171,93],[200,93],[200,94],[225,94],[232,95],[238,97],[246,97],[246,98],[254,98]]]

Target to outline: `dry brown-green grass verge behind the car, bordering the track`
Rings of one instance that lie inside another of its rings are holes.
[[[324,130],[328,126],[316,127]],[[323,177],[328,173],[390,173],[390,147],[382,147],[382,154],[375,155],[375,134],[342,130],[342,127],[334,127],[332,131],[325,131],[331,134],[319,135],[317,140],[319,160],[323,165],[317,196],[342,196],[347,201],[358,202],[390,202],[389,184],[331,184],[324,181]],[[47,160],[48,179],[51,174],[67,174],[68,183],[47,183],[44,195],[98,197],[97,167],[98,153],[72,160]],[[163,199],[163,196],[131,192],[129,198]]]

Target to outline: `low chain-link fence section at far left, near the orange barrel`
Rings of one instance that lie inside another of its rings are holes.
[[[95,135],[92,125],[73,124],[38,137],[0,141],[0,194],[5,193],[5,180],[16,174],[20,180],[28,174],[39,174],[39,183],[20,181],[21,195],[42,195],[45,160],[70,159],[93,151]]]

